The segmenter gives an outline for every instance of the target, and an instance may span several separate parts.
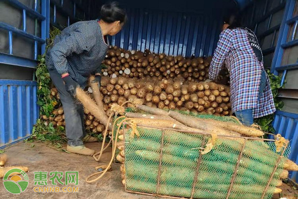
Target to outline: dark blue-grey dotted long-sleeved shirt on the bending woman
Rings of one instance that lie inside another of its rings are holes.
[[[90,74],[101,73],[108,44],[97,20],[79,21],[65,28],[48,49],[46,63],[58,73],[69,73],[82,88]]]

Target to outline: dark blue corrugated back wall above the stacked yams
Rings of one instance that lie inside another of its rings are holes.
[[[128,50],[210,56],[215,50],[221,17],[213,14],[127,9],[129,23],[113,36],[111,44]]]

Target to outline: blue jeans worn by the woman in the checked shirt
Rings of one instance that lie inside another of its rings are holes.
[[[259,88],[259,100],[264,92],[264,89],[266,87],[266,72],[262,70],[262,75],[261,75],[261,83],[260,83],[260,88]],[[243,109],[243,110],[237,110],[235,111],[236,117],[239,119],[239,121],[246,125],[250,126],[253,124],[253,115],[252,115],[252,109]]]

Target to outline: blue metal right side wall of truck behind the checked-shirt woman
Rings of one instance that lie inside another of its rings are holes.
[[[298,16],[293,16],[297,5],[298,0],[253,0],[244,10],[245,25],[250,26],[256,32],[263,50],[265,65],[271,67],[271,72],[275,75],[279,73],[283,75],[282,84],[286,79],[287,71],[291,73],[298,66],[298,63],[282,65],[284,50],[298,45],[297,39],[287,41],[290,26],[298,24]],[[296,32],[293,31],[291,34],[292,38],[295,38]],[[287,84],[291,84],[290,81]],[[287,96],[287,98],[290,97]],[[298,106],[298,100],[296,104]],[[276,133],[290,140],[292,152],[289,158],[298,164],[298,114],[278,110],[275,112],[273,126]],[[290,173],[290,178],[297,181],[298,172]]]

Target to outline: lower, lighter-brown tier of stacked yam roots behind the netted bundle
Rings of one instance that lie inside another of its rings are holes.
[[[103,97],[103,110],[110,116],[113,103],[121,105],[129,101],[125,107],[134,107],[133,101],[140,99],[143,104],[162,109],[178,109],[193,113],[214,115],[230,115],[229,87],[213,82],[185,82],[183,79],[153,81],[137,78],[102,77],[100,93]],[[52,88],[51,96],[59,100],[56,88]],[[92,97],[92,95],[90,95]],[[93,133],[102,133],[104,124],[88,109],[85,112],[85,127]],[[42,115],[44,124],[52,122],[54,126],[65,126],[63,107],[52,112],[53,116]]]

